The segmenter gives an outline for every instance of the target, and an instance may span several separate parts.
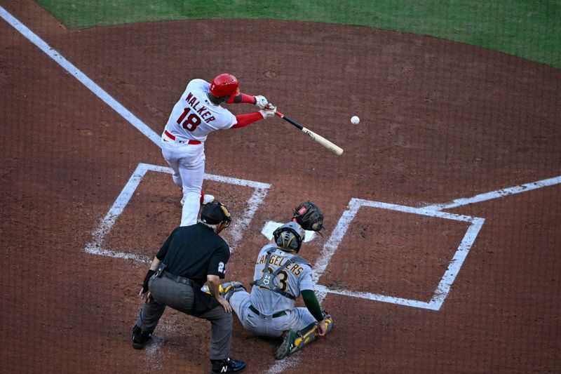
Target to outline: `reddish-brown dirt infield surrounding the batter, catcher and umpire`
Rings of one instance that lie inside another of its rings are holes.
[[[157,134],[187,81],[231,72],[344,149],[335,156],[280,119],[205,143],[206,173],[269,185],[248,225],[225,236],[236,242],[229,280],[251,281],[266,222],[305,199],[326,218],[301,255],[321,270],[334,329],[278,362],[276,342],[236,320],[231,354],[249,373],[561,371],[559,70],[365,27],[69,31],[32,1],[0,5]],[[139,164],[165,166],[158,146],[6,20],[0,34],[0,371],[206,372],[210,325],[168,310],[156,342],[133,349],[147,264],[85,251]],[[252,187],[203,187],[247,216]],[[179,224],[179,198],[170,175],[148,171],[104,248],[150,258]]]

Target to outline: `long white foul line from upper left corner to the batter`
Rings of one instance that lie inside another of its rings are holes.
[[[100,98],[103,102],[105,102],[109,107],[113,108],[115,112],[119,113],[124,119],[126,119],[131,125],[135,126],[138,131],[144,134],[149,140],[154,142],[158,147],[160,147],[160,135],[156,134],[154,130],[149,128],[144,122],[140,121],[133,113],[131,113],[126,107],[123,107],[120,102],[115,100],[114,98],[109,95],[103,88],[95,84],[94,81],[88,78],[86,74],[83,74],[77,67],[72,65],[72,62],[69,62],[66,58],[62,57],[60,53],[55,51],[54,48],[46,44],[43,39],[37,36],[34,32],[28,29],[25,25],[22,24],[19,20],[13,17],[6,9],[0,6],[0,17],[4,18],[6,22],[8,22],[12,27],[20,34],[25,36],[29,41],[31,41],[37,48],[41,51],[46,53],[50,58],[55,60],[63,69],[67,72],[72,74],[74,78],[78,79],[81,84],[86,86],[90,91],[92,91],[98,98]]]

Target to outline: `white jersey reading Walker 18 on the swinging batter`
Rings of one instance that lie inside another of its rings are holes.
[[[210,84],[203,79],[193,79],[173,110],[165,130],[177,138],[204,142],[209,133],[231,128],[236,116],[228,109],[208,100]]]

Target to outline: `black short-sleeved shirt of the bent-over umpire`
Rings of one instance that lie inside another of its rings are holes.
[[[166,272],[203,284],[208,274],[224,279],[230,248],[219,234],[196,223],[173,230],[156,258],[167,265]]]

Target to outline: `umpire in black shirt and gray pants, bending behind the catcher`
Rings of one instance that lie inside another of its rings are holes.
[[[234,373],[245,362],[231,359],[232,309],[219,294],[230,248],[219,232],[230,225],[230,213],[218,201],[203,206],[201,219],[177,227],[163,243],[144,278],[140,298],[144,305],[133,327],[133,347],[142,349],[166,306],[210,321],[212,373]],[[212,295],[203,293],[207,283]]]

